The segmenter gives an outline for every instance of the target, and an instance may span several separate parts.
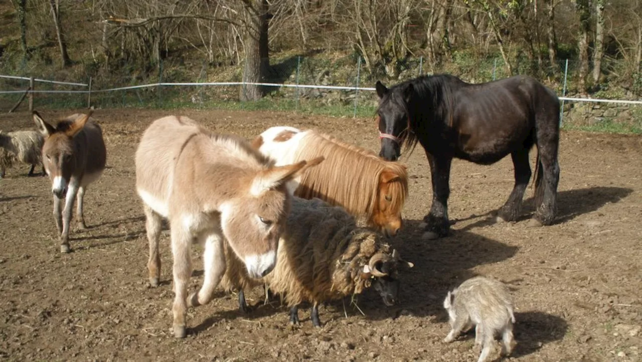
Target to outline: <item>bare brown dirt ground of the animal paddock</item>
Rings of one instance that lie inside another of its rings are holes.
[[[46,119],[72,113],[45,111]],[[105,133],[107,170],[85,197],[87,231],[72,231],[74,252],[60,254],[51,215],[50,183],[27,177],[28,167],[0,181],[0,358],[9,360],[162,361],[475,361],[474,334],[443,343],[449,331],[442,301],[476,274],[510,286],[516,304],[517,347],[509,361],[642,360],[642,138],[562,132],[559,216],[529,227],[524,218],[496,224],[492,213],[512,188],[512,163],[483,167],[455,161],[449,215],[453,233],[421,239],[431,186],[421,149],[408,164],[406,224],[392,240],[415,267],[401,274],[401,302],[386,308],[374,292],[320,308],[321,329],[309,309],[288,326],[279,302],[238,312],[236,297],[220,292],[191,309],[188,336],[171,334],[171,253],[162,240],[162,281],[147,281],[144,218],[134,190],[134,151],[154,119],[183,114],[223,133],[253,138],[275,125],[315,128],[378,149],[372,119],[249,111],[96,110]],[[0,129],[30,128],[28,113],[0,115]],[[532,152],[532,160],[534,160]],[[532,161],[532,164],[533,161]],[[198,249],[198,247],[196,247]],[[198,252],[196,253],[198,254]],[[191,288],[202,283],[195,261]],[[499,346],[491,354],[499,358]]]

